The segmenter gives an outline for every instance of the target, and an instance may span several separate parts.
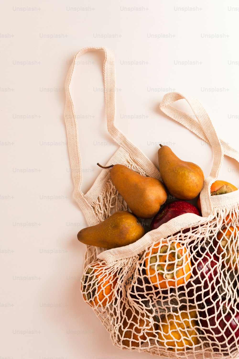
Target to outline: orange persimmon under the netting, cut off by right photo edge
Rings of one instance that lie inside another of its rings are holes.
[[[223,228],[217,234],[217,239],[219,244],[215,243],[217,246],[217,253],[224,260],[224,264],[228,266],[229,269],[238,270],[238,261],[239,261],[239,249],[238,242],[235,242],[236,234],[238,234],[239,227],[230,226],[229,228]]]

